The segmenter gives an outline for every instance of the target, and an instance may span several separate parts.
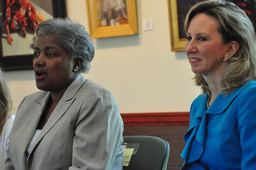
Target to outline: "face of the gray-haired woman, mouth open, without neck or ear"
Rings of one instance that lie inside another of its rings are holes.
[[[50,92],[65,91],[75,79],[74,62],[51,34],[40,36],[34,47],[36,86]]]

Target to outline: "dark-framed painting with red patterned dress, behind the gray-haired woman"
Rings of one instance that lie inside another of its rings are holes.
[[[66,17],[65,0],[0,1],[0,64],[5,71],[32,69],[36,26]]]

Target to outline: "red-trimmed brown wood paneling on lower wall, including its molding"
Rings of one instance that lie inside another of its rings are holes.
[[[123,136],[157,136],[167,140],[170,144],[167,170],[180,170],[183,165],[180,154],[185,146],[189,112],[123,113],[121,116],[125,126]]]

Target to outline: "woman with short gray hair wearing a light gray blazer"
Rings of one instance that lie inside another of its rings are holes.
[[[81,73],[91,37],[69,18],[39,24],[33,68],[41,91],[21,101],[5,170],[122,170],[123,121],[112,94]]]

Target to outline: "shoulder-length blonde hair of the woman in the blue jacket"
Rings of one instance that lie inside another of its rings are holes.
[[[246,13],[234,3],[225,0],[199,2],[192,6],[186,15],[185,32],[188,31],[191,19],[198,13],[204,13],[219,21],[218,31],[224,44],[232,40],[239,43],[237,53],[228,60],[222,76],[222,93],[228,95],[249,80],[255,80],[256,36],[253,24]],[[211,97],[211,91],[203,76],[196,74],[194,79],[196,85],[201,86],[203,93]]]

